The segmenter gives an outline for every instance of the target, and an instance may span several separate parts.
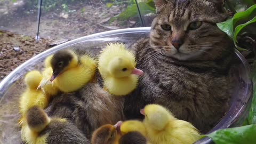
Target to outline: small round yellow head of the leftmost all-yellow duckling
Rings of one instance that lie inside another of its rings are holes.
[[[40,74],[39,71],[29,71],[25,76],[25,83],[30,89],[37,89],[37,86],[41,82],[42,78],[43,76]]]

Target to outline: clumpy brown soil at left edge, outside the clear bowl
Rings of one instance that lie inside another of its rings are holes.
[[[26,60],[50,48],[52,41],[0,30],[0,81]]]

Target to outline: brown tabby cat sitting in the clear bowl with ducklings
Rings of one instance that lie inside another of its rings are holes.
[[[144,71],[125,98],[127,119],[143,118],[148,103],[168,108],[205,133],[229,108],[234,46],[216,25],[225,21],[223,0],[157,0],[149,38],[132,47]]]

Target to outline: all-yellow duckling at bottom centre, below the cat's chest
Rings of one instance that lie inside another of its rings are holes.
[[[143,123],[151,143],[193,143],[200,137],[196,127],[175,118],[170,111],[160,105],[147,105],[140,112],[145,115]]]

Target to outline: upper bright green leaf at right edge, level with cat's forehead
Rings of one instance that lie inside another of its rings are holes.
[[[249,7],[246,11],[238,12],[233,17],[233,29],[251,19],[256,15],[256,5]]]

